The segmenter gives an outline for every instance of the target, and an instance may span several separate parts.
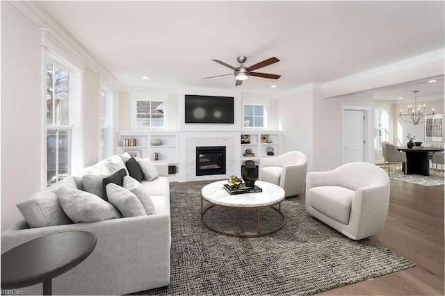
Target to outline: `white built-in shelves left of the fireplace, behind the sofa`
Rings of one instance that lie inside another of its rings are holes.
[[[141,158],[150,158],[154,163],[167,163],[169,177],[175,181],[179,174],[178,137],[175,132],[144,133],[140,131],[118,132],[118,153],[129,154]],[[135,146],[126,146],[127,142]],[[158,145],[160,143],[160,145]],[[156,156],[155,156],[156,154]]]

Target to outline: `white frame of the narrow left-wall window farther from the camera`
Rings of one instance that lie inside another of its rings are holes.
[[[108,88],[102,86],[100,92],[104,93],[104,99],[106,100],[105,106],[105,124],[99,124],[100,129],[100,140],[101,143],[99,145],[99,156],[101,159],[105,159],[108,156],[113,154],[113,92]],[[102,94],[101,94],[102,96]],[[101,97],[99,97],[101,99]],[[99,115],[102,117],[102,113]],[[106,138],[106,147],[105,149],[102,147],[102,133],[104,134],[104,138]],[[104,152],[105,151],[105,155]]]

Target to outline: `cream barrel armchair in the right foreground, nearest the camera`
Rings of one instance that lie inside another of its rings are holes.
[[[327,172],[309,172],[307,213],[353,240],[368,238],[385,226],[389,176],[372,163],[347,163]]]

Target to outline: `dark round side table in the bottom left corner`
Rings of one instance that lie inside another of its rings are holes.
[[[43,295],[51,295],[52,279],[85,260],[96,242],[87,231],[65,231],[24,242],[1,254],[1,289],[43,282]]]

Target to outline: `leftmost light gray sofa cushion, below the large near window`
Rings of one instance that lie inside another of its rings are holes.
[[[58,188],[77,189],[76,180],[73,176],[68,176],[53,186],[34,193],[16,204],[29,227],[47,227],[72,223],[72,220],[58,203],[56,195]]]

